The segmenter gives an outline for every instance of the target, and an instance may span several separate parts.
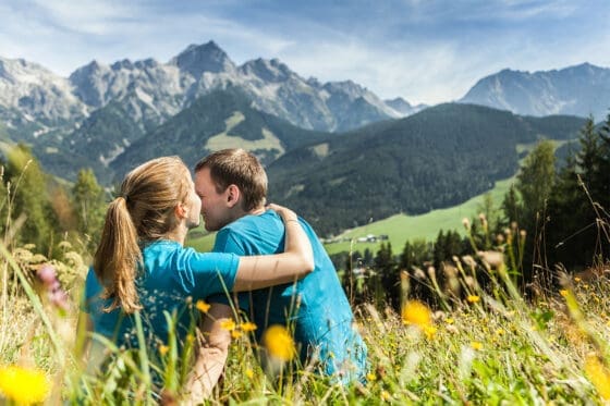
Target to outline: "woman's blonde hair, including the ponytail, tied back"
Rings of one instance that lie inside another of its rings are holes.
[[[110,202],[94,270],[112,298],[106,308],[121,307],[126,313],[142,308],[135,286],[142,267],[139,244],[163,238],[179,222],[175,207],[187,199],[191,185],[188,169],[179,157],[152,159],[127,173],[120,195]]]

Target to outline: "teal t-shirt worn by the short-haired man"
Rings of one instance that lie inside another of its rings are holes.
[[[269,325],[293,328],[303,364],[316,357],[322,373],[344,382],[362,380],[366,345],[354,329],[350,303],[316,233],[303,219],[300,223],[314,249],[314,271],[295,283],[242,293],[240,308],[256,323],[258,340]],[[213,251],[240,256],[282,253],[284,237],[282,220],[268,210],[259,216],[245,216],[221,229]],[[227,304],[227,295],[210,297],[210,302]]]

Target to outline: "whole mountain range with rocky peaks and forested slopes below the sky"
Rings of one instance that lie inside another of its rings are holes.
[[[517,146],[573,139],[609,107],[610,70],[590,64],[505,70],[428,107],[303,78],[277,59],[236,65],[213,41],[167,63],[93,61],[68,78],[0,58],[1,150],[25,144],[58,177],[91,168],[111,186],[154,157],[193,165],[243,147],[267,167],[270,199],[321,235],[467,200],[516,172]]]

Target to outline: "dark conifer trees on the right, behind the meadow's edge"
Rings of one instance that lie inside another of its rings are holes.
[[[556,285],[562,272],[599,273],[608,268],[610,114],[598,126],[587,119],[578,148],[560,169],[554,150],[553,142],[540,140],[524,159],[501,206],[493,207],[485,195],[479,216],[464,219],[466,236],[441,230],[434,242],[407,241],[398,255],[388,243],[376,254],[367,248],[334,256],[338,268],[345,270],[343,286],[354,303],[374,300],[399,309],[405,288],[412,297],[435,303],[435,291],[460,296],[460,287],[468,283],[485,286],[485,272],[468,281],[459,271],[485,250],[503,253],[511,278],[526,295]]]

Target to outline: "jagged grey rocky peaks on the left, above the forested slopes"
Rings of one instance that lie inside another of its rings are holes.
[[[405,115],[353,82],[304,79],[278,59],[236,66],[213,41],[191,45],[168,63],[94,60],[68,79],[23,60],[0,60],[0,109],[49,124],[74,123],[117,101],[150,131],[198,97],[229,87],[241,88],[253,107],[309,130],[342,132]]]

